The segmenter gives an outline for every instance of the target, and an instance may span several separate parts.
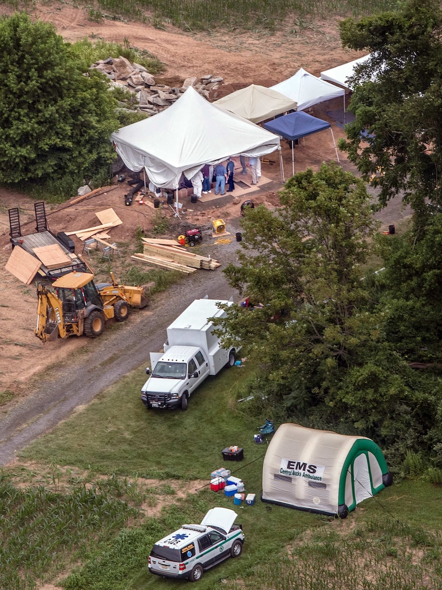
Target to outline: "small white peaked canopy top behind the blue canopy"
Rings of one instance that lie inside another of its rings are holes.
[[[295,100],[298,104],[298,111],[308,109],[308,107],[324,100],[336,99],[345,94],[345,89],[329,84],[325,80],[321,80],[321,78],[316,78],[316,76],[309,74],[303,68],[300,68],[291,78],[271,86],[271,89],[277,90],[281,94],[288,96],[289,99]]]

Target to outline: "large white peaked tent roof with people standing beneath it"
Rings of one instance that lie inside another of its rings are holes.
[[[192,87],[168,109],[121,127],[111,140],[126,166],[146,169],[154,185],[177,188],[207,163],[243,153],[263,156],[279,149],[279,137],[213,106]]]

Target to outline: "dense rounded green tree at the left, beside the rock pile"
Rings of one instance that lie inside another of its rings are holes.
[[[115,100],[51,24],[0,19],[0,181],[90,176],[113,159]]]

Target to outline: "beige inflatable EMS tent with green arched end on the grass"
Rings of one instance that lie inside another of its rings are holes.
[[[261,500],[345,518],[391,484],[384,455],[370,438],[282,424],[265,455]]]

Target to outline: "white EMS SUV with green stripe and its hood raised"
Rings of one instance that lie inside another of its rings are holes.
[[[200,525],[183,525],[153,546],[149,571],[165,578],[201,579],[205,569],[242,553],[244,533],[234,525],[238,514],[229,508],[212,508]]]

